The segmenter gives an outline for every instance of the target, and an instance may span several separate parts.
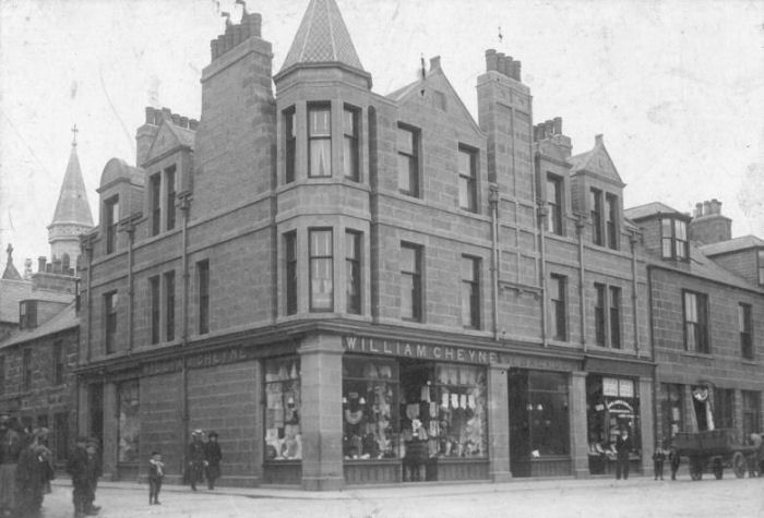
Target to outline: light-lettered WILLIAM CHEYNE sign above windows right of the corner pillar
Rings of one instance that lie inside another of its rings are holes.
[[[386,340],[358,336],[344,336],[343,345],[346,351],[385,354],[391,357],[416,358],[461,363],[497,363],[499,353],[479,351],[464,347],[433,346],[403,340]]]

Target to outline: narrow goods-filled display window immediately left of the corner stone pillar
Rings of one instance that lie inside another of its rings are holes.
[[[265,460],[302,459],[300,361],[265,360]]]

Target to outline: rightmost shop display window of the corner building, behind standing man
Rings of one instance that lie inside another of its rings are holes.
[[[598,472],[598,460],[614,459],[616,438],[622,429],[629,430],[638,456],[642,449],[640,434],[640,398],[632,378],[599,376],[586,377],[586,422],[589,439],[589,468]],[[604,468],[602,468],[604,469]]]

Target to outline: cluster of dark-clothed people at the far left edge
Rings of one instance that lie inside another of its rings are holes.
[[[47,439],[47,429],[25,429],[0,414],[0,516],[39,516],[53,478]]]

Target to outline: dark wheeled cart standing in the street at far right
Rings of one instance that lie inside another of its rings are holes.
[[[711,469],[717,480],[721,479],[726,467],[732,468],[735,475],[742,479],[756,454],[755,446],[740,444],[735,431],[727,429],[680,432],[673,437],[673,447],[680,456],[690,459],[692,480],[701,480],[706,469]]]

